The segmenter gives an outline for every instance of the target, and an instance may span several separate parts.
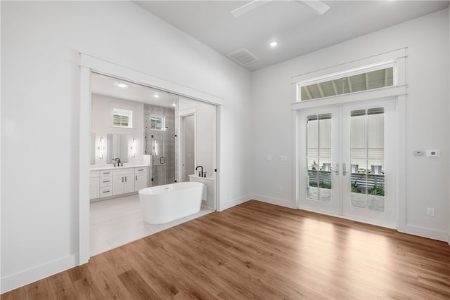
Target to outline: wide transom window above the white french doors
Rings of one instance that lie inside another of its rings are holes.
[[[363,67],[298,84],[300,101],[394,86],[394,63]]]

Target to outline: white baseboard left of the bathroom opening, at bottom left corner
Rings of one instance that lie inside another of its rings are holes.
[[[0,293],[3,294],[4,292],[11,291],[12,289],[17,289],[18,287],[23,287],[24,285],[41,280],[42,278],[60,273],[63,270],[68,270],[77,266],[77,263],[78,255],[70,255],[63,257],[62,259],[44,263],[43,265],[30,268],[28,270],[6,275],[1,278]]]

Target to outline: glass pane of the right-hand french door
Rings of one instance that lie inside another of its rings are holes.
[[[350,113],[351,206],[385,211],[384,108]]]

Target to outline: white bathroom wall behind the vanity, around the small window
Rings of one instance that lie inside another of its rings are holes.
[[[128,155],[129,164],[141,164],[143,163],[143,103],[134,101],[113,98],[109,96],[92,94],[91,97],[92,109],[91,109],[91,132],[96,133],[96,164],[91,167],[105,167],[106,153],[108,152],[108,145],[106,138],[108,134],[127,134],[129,136],[129,145],[131,147],[132,139],[136,140],[136,155],[131,156],[131,151]],[[122,108],[133,111],[133,127],[132,129],[122,129],[113,126],[113,107]],[[104,142],[104,155],[103,159],[100,158],[98,145],[100,144],[100,138],[105,139]],[[124,157],[120,157],[124,160]],[[109,164],[111,167],[112,164]]]

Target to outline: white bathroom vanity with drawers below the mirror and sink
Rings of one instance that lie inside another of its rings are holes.
[[[148,186],[148,166],[99,167],[91,169],[91,202],[136,193]]]

